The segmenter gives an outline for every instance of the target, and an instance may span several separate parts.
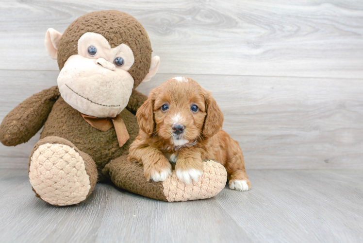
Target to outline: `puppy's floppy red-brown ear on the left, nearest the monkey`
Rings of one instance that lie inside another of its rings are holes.
[[[137,123],[141,130],[151,135],[154,131],[154,90],[151,90],[148,99],[136,111]]]

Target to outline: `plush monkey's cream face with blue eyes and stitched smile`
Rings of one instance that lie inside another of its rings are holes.
[[[128,104],[134,63],[130,47],[111,48],[100,34],[87,32],[78,40],[78,54],[66,61],[58,76],[62,98],[89,116],[115,117]]]

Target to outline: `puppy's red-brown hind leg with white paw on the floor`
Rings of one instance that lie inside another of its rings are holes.
[[[251,183],[245,169],[245,160],[238,143],[231,139],[227,149],[228,160],[225,164],[230,189],[236,191],[248,191],[251,189]]]

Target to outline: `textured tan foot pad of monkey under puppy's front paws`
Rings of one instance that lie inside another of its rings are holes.
[[[164,194],[168,202],[211,198],[226,186],[227,171],[220,163],[207,160],[203,163],[203,175],[191,185],[181,182],[175,171],[164,182]]]

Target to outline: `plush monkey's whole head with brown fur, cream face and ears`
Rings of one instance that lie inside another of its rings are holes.
[[[151,58],[146,30],[134,17],[116,10],[96,11],[71,23],[64,34],[49,28],[49,56],[58,61],[58,87],[76,110],[115,117],[128,104],[132,89],[148,82],[160,58]]]

